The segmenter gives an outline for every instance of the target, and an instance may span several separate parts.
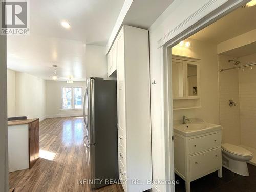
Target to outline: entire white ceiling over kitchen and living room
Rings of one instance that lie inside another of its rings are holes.
[[[85,44],[105,46],[124,0],[36,0],[30,3],[30,35],[7,37],[7,67],[51,80],[85,80]],[[71,28],[60,25],[67,20]]]

